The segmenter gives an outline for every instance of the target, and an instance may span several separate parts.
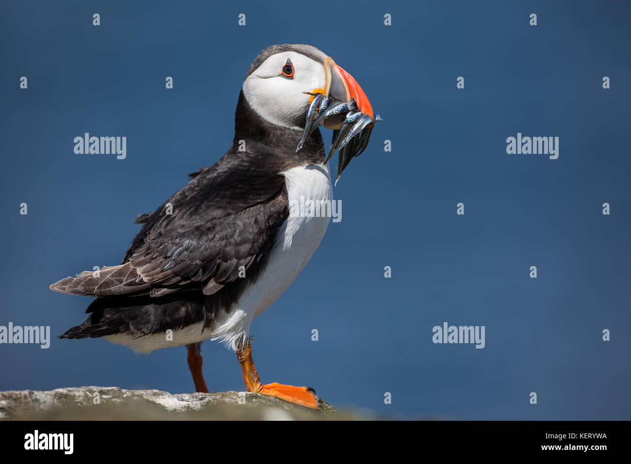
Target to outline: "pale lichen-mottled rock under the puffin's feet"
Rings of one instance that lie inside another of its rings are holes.
[[[180,393],[84,386],[0,391],[0,419],[11,420],[319,420],[338,412],[315,396],[312,410],[246,391]]]

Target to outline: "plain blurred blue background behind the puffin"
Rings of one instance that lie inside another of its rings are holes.
[[[630,13],[574,1],[4,2],[0,324],[51,336],[80,324],[91,299],[50,283],[118,264],[134,217],[227,150],[257,54],[307,43],[353,74],[384,121],[334,189],[342,221],[252,324],[262,381],[409,418],[631,419]],[[85,132],[127,136],[127,158],[74,154]],[[517,132],[558,136],[558,159],[508,155]],[[486,347],[433,344],[444,321],[486,326]],[[211,391],[244,390],[232,352],[205,342],[203,355]],[[193,389],[184,347],[0,345],[0,372],[0,390]]]

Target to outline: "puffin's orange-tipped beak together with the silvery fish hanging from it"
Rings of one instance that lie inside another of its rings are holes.
[[[305,131],[296,151],[302,148],[307,137],[321,124],[326,129],[333,129],[331,150],[324,164],[339,150],[337,184],[351,158],[359,156],[366,149],[374,123],[381,121],[381,118],[375,115],[370,100],[353,76],[330,56],[323,64],[326,85],[325,88],[305,92],[310,95],[310,104]]]

